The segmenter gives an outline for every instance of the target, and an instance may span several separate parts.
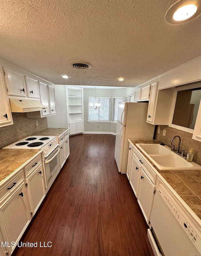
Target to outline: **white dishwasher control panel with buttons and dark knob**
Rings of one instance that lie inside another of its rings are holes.
[[[187,235],[191,238],[191,241],[194,243],[195,247],[201,253],[201,234],[198,231],[199,227],[195,223],[193,223],[193,221],[190,221],[190,216],[187,216],[187,214],[184,213],[179,205],[179,202],[177,202],[171,196],[171,194],[166,190],[166,188],[164,188],[163,185],[160,184],[157,190],[162,199],[166,202],[171,212],[174,214],[179,224],[186,231]],[[186,217],[184,217],[185,215]]]

